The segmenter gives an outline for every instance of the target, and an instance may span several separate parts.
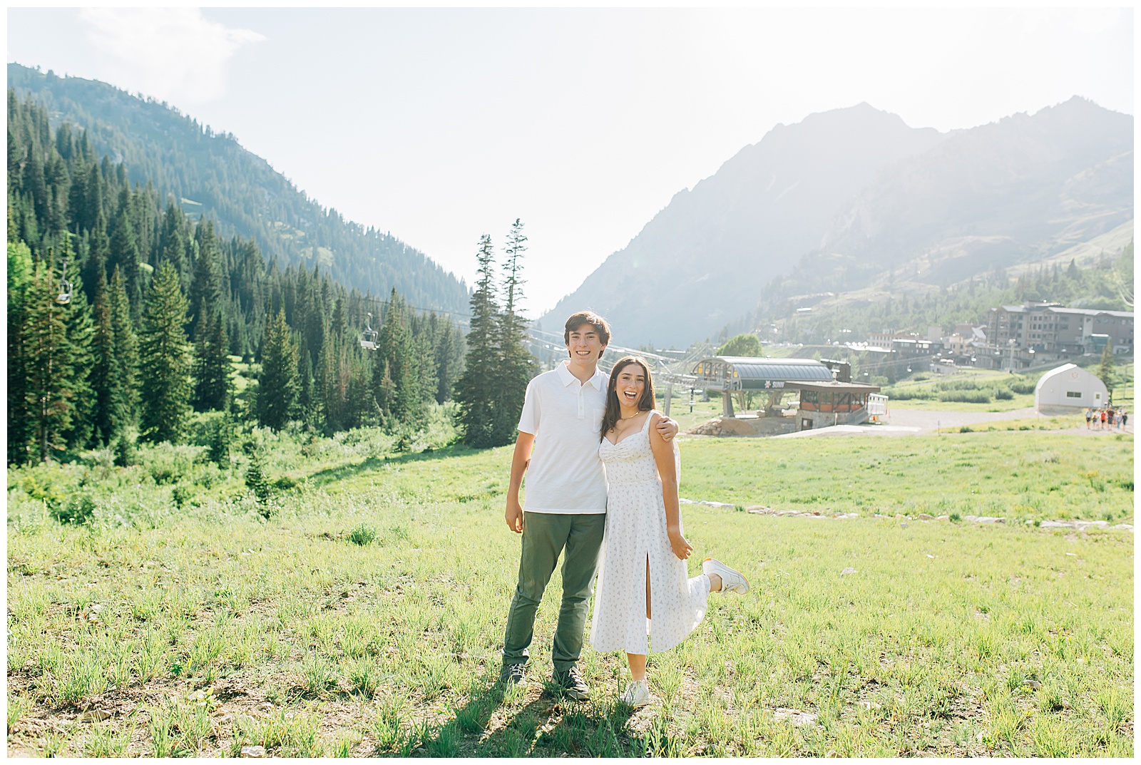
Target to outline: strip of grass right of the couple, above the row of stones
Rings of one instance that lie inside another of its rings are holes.
[[[1119,483],[1133,478],[1133,437],[1117,436],[1002,430],[779,441],[682,437],[681,493],[746,506],[861,514],[1132,518],[1132,491]],[[1092,488],[1085,479],[1091,471],[1110,488]]]

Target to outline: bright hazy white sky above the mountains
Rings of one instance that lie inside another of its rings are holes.
[[[9,9],[8,60],[233,132],[469,284],[531,237],[532,316],[777,123],[867,101],[970,128],[1133,113],[1132,9]]]

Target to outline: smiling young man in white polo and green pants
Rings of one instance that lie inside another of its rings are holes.
[[[598,360],[610,342],[610,327],[601,316],[580,311],[567,319],[563,340],[570,358],[527,384],[511,459],[505,519],[509,529],[523,535],[523,552],[503,636],[500,682],[524,681],[535,611],[566,548],[563,604],[551,645],[553,679],[569,698],[586,699],[590,689],[577,662],[606,529],[606,474],[598,443],[608,379],[598,369]],[[663,420],[658,431],[670,440],[678,423]],[[524,472],[525,507],[519,504]]]

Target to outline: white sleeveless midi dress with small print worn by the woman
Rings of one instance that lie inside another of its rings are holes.
[[[598,446],[609,488],[590,629],[596,651],[646,654],[647,634],[655,652],[666,651],[705,616],[709,579],[704,575],[687,578],[686,562],[670,546],[662,479],[649,446],[654,414],[650,412],[639,432],[617,443],[604,438]],[[678,461],[677,443],[673,448]],[[647,561],[653,619],[646,619]]]

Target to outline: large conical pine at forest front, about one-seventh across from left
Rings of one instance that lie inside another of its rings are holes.
[[[173,266],[159,268],[143,307],[139,334],[140,436],[177,443],[191,412],[191,353],[183,323],[186,298]]]

